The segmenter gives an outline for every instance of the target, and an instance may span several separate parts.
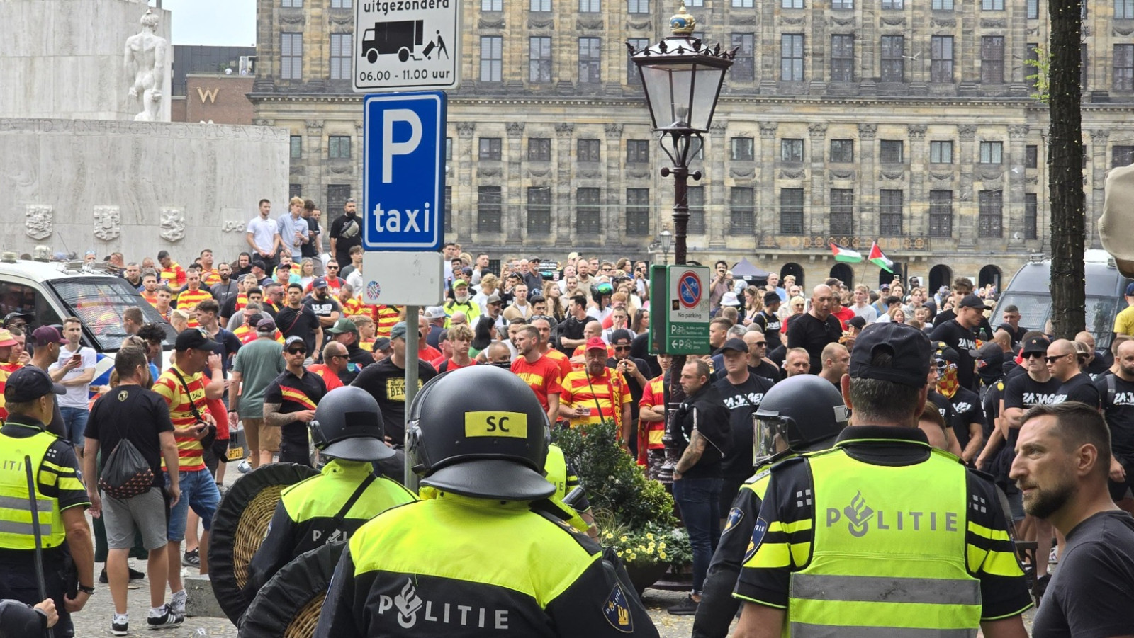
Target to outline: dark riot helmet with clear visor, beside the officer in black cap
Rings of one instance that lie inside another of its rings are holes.
[[[753,459],[761,465],[782,451],[777,441],[793,452],[804,452],[833,437],[847,425],[847,407],[830,381],[799,374],[764,393],[753,419]]]

